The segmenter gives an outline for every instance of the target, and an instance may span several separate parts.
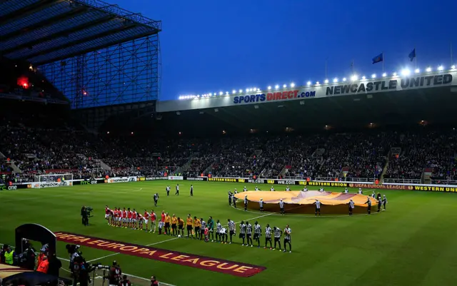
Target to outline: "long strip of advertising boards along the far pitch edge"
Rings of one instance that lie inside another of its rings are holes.
[[[97,185],[103,183],[132,183],[144,182],[151,180],[190,180],[190,181],[209,181],[209,182],[225,182],[225,183],[248,183],[258,185],[301,185],[307,187],[338,187],[338,188],[364,188],[378,190],[425,190],[433,192],[451,192],[457,193],[457,185],[421,185],[421,184],[405,184],[405,183],[354,183],[354,182],[339,182],[329,180],[279,180],[279,179],[251,179],[251,178],[225,178],[225,177],[184,177],[184,176],[169,176],[169,177],[116,177],[116,178],[94,178],[80,180],[66,180],[65,182],[29,182],[15,183],[13,185],[0,185],[1,190],[19,190],[26,188],[56,188],[72,185]]]

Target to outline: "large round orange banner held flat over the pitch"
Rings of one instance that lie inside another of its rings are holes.
[[[248,191],[241,192],[235,195],[238,199],[236,208],[243,209],[244,196],[247,195],[248,210],[257,211],[260,206],[258,201],[263,199],[263,210],[270,213],[280,213],[279,200],[282,198],[284,202],[285,213],[314,215],[316,205],[313,205],[318,199],[321,202],[322,215],[348,215],[348,202],[353,200],[353,213],[366,214],[368,213],[368,205],[365,204],[368,196],[358,195],[354,193],[333,193],[319,192],[318,190],[303,191]],[[371,211],[376,212],[378,207],[375,199],[371,198]]]

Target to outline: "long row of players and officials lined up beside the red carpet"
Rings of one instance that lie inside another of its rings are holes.
[[[121,210],[121,208],[114,208],[114,210],[111,210],[108,205],[106,205],[105,218],[111,226],[131,228],[133,230],[145,230],[146,232],[148,231],[149,220],[151,220],[151,229],[149,232],[156,232],[157,217],[154,210],[151,210],[151,213],[144,210],[144,214],[141,215],[136,212],[135,209],[130,210],[130,208],[124,208],[124,210]],[[228,219],[226,226],[221,225],[220,220],[217,220],[216,231],[214,232],[214,220],[211,216],[209,217],[208,222],[206,222],[204,218],[197,218],[196,216],[191,218],[191,215],[189,214],[187,215],[186,222],[184,222],[181,218],[176,218],[176,215],[170,216],[169,213],[165,213],[164,211],[161,213],[161,218],[157,224],[159,235],[161,235],[163,231],[164,235],[168,234],[178,238],[181,238],[181,236],[184,237],[184,223],[186,224],[187,231],[186,238],[204,240],[205,242],[209,242],[211,238],[211,242],[231,244],[233,242],[233,236],[236,235],[236,224],[233,220]],[[254,225],[251,225],[248,221],[241,221],[239,231],[238,237],[242,240],[242,246],[251,245],[251,247],[253,247],[253,241],[256,241],[257,247],[261,247],[260,238],[262,235],[262,228],[257,221]],[[216,233],[216,238],[214,233]],[[289,246],[289,252],[292,251],[291,228],[289,228],[288,225],[286,225],[284,230],[281,230],[281,228],[276,227],[273,227],[272,229],[270,228],[270,225],[267,224],[264,234],[265,246],[263,248],[266,249],[269,243],[270,250],[276,250],[276,245],[278,245],[278,249],[281,250],[281,237],[284,235],[283,252],[286,252],[286,245]],[[274,238],[274,245],[272,244],[272,238]]]

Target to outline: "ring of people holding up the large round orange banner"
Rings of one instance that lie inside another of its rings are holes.
[[[256,186],[256,189],[255,190],[260,190],[257,188]],[[270,190],[273,192],[275,191],[273,186],[271,186]],[[243,188],[243,192],[246,192],[246,187]],[[290,188],[288,188],[288,186],[286,187],[286,191],[290,191]],[[303,188],[302,192],[307,192],[308,191],[308,188]],[[325,192],[325,190],[323,188],[321,188],[319,190],[319,192],[323,193]],[[236,208],[236,197],[235,195],[238,193],[238,191],[235,189],[233,190],[233,193],[231,193],[231,191],[229,190],[228,194],[229,194],[229,205],[230,206],[233,206],[233,208]],[[344,192],[343,193],[349,193],[349,190],[348,188],[345,188],[344,189]],[[362,188],[358,188],[358,192],[357,192],[358,195],[363,195],[363,190]],[[381,206],[383,206],[383,211],[386,210],[386,204],[387,204],[387,198],[386,198],[386,195],[383,195],[383,197],[381,198],[381,193],[378,192],[378,195],[376,195],[375,191],[373,190],[373,193],[371,193],[371,195],[368,195],[368,200],[366,201],[366,203],[364,203],[365,205],[368,205],[368,215],[371,214],[371,200],[370,200],[370,197],[371,198],[374,198],[378,201],[378,213],[381,212]],[[248,210],[248,196],[245,195],[244,196],[244,199],[243,199],[243,203],[244,203],[244,210],[247,211]],[[259,210],[261,213],[263,213],[263,199],[261,198],[259,201],[258,201],[258,205],[259,205]],[[316,199],[316,201],[313,203],[313,205],[316,206],[316,210],[315,210],[315,215],[319,215],[321,216],[321,205],[323,205],[323,203],[321,203],[320,200]],[[353,209],[355,208],[355,203],[353,202],[352,199],[349,200],[349,202],[347,203],[348,205],[348,208],[349,208],[349,215],[352,215],[353,214]],[[284,210],[284,202],[282,199],[279,200],[279,209],[280,209],[280,213],[281,215],[285,215],[285,210]]]

